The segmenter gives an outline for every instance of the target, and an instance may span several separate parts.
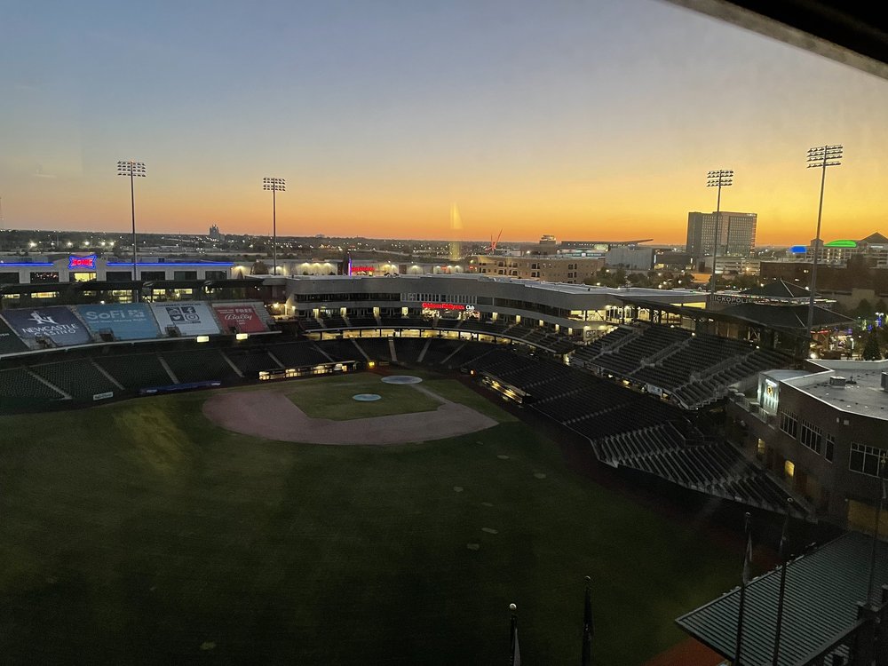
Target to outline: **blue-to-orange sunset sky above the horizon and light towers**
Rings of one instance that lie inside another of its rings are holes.
[[[658,0],[7,4],[5,228],[685,241],[888,234],[888,81]],[[462,230],[450,229],[456,202]]]

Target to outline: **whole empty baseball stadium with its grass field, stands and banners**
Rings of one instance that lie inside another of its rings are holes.
[[[595,664],[715,666],[735,634],[770,662],[778,603],[781,664],[858,663],[886,613],[884,543],[867,578],[868,541],[845,534],[879,526],[888,402],[855,392],[884,361],[807,359],[792,295],[718,309],[480,275],[40,289],[0,289],[6,663],[505,662],[512,603],[526,663],[577,662],[591,638]],[[846,324],[815,314],[823,335]],[[818,408],[813,387],[849,373],[847,404]],[[863,575],[829,609],[787,598],[784,621],[773,567],[821,599],[839,547]]]

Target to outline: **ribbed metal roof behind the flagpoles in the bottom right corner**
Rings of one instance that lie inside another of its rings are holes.
[[[781,630],[781,666],[812,662],[857,622],[858,603],[867,599],[873,541],[849,532],[789,563]],[[739,568],[739,567],[738,567]],[[740,572],[738,571],[738,575]],[[780,568],[746,587],[741,661],[771,663],[777,623]],[[875,589],[888,584],[888,543],[879,542]],[[678,626],[731,659],[737,638],[740,588],[682,615]]]

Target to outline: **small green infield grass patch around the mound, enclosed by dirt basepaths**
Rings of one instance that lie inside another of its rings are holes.
[[[355,393],[377,393],[382,396],[382,400],[358,402],[353,400]],[[417,391],[413,386],[385,384],[382,377],[366,373],[294,382],[287,397],[306,416],[334,421],[428,412],[439,408],[441,404],[440,400]]]

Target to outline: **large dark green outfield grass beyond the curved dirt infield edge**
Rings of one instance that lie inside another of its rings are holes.
[[[633,666],[739,575],[493,403],[464,437],[324,447],[223,431],[209,396],[0,417],[0,662],[504,663],[515,602],[524,662],[570,664],[591,575],[593,662]]]

